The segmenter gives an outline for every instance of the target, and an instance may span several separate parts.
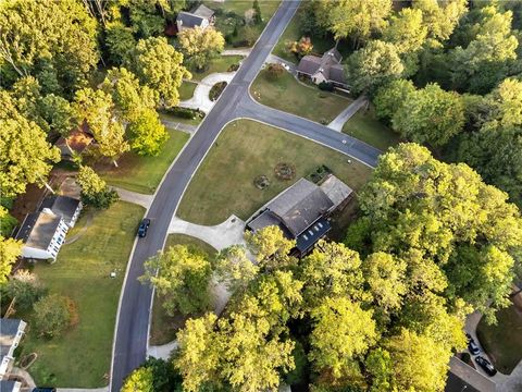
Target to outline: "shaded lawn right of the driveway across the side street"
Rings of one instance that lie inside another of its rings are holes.
[[[373,108],[359,110],[345,123],[343,132],[382,150],[400,142],[398,134],[377,120]]]

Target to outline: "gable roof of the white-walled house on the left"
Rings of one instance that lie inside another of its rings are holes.
[[[47,250],[61,220],[41,211],[28,213],[16,233],[16,240],[22,240],[26,246]]]

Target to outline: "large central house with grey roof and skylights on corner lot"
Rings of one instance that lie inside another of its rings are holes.
[[[333,174],[321,185],[300,179],[264,205],[247,223],[247,230],[278,226],[296,241],[299,255],[308,253],[331,229],[328,215],[349,199],[352,189]]]

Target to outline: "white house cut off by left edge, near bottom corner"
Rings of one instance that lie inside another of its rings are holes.
[[[7,379],[13,367],[14,350],[24,335],[25,327],[25,321],[0,318],[0,380]]]

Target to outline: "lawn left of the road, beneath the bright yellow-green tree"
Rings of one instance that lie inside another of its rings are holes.
[[[153,194],[163,174],[179,154],[189,135],[185,132],[169,130],[166,140],[158,157],[141,157],[129,152],[102,172],[103,179],[111,185],[142,194]]]

